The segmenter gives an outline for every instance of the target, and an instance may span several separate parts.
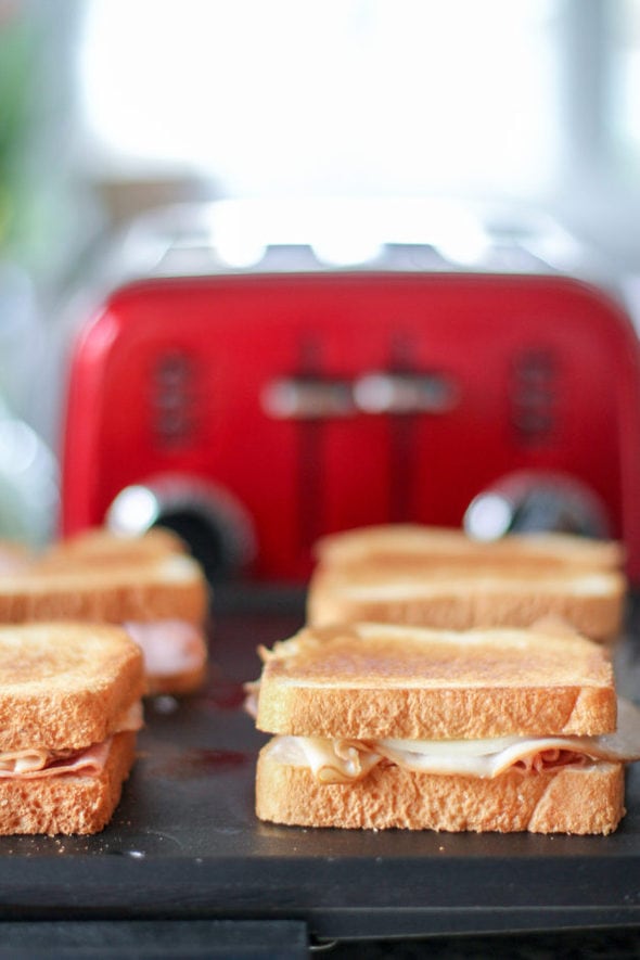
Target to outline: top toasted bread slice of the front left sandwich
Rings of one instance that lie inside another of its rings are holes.
[[[140,649],[116,626],[0,628],[0,750],[79,748],[145,692]]]

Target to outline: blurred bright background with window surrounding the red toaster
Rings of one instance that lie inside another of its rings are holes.
[[[640,0],[0,0],[0,537],[51,536],[48,361],[104,239],[298,196],[535,207],[640,319]]]

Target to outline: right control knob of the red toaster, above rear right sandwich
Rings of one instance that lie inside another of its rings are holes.
[[[527,532],[610,536],[606,510],[585,484],[535,472],[512,474],[478,494],[469,504],[463,526],[477,540]]]

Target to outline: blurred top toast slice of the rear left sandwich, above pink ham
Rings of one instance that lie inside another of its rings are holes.
[[[201,622],[206,579],[192,558],[52,565],[0,578],[0,623],[79,619],[119,624],[164,618]]]

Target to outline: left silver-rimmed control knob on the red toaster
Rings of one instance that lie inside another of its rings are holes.
[[[227,490],[187,475],[125,487],[107,511],[106,525],[129,536],[153,526],[174,529],[210,580],[232,577],[255,556],[253,523],[239,501]]]

